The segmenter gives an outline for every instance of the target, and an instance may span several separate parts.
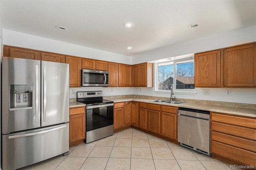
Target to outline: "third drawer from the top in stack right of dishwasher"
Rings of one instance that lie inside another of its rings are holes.
[[[230,136],[228,134],[213,131],[211,133],[211,139],[225,144],[230,144],[232,146],[236,146],[239,148],[243,148],[246,150],[250,150],[252,152],[256,152],[256,141],[253,140],[239,138],[236,136]]]

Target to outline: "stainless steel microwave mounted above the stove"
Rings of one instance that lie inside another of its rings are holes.
[[[108,71],[82,69],[82,86],[108,86]]]

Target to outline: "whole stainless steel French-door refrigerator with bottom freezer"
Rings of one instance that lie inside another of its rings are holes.
[[[2,58],[2,169],[69,149],[69,65]]]

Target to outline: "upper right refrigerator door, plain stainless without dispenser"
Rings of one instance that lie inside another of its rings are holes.
[[[69,65],[42,61],[41,125],[69,122]]]

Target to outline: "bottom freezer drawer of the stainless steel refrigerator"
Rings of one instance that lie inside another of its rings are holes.
[[[68,140],[69,123],[2,135],[2,169],[22,168],[68,152]]]

